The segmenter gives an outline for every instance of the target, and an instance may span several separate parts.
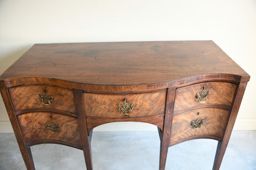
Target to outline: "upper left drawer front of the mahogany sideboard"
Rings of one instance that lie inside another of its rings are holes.
[[[49,96],[44,96],[45,91]],[[73,91],[45,85],[28,85],[10,88],[10,96],[16,111],[50,108],[75,113]],[[39,94],[41,95],[41,99]],[[49,100],[42,101],[42,98]],[[52,99],[52,101],[50,101]]]

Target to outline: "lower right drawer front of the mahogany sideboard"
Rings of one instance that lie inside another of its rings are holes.
[[[223,109],[198,109],[174,115],[170,144],[198,137],[221,140],[228,115],[229,111]]]

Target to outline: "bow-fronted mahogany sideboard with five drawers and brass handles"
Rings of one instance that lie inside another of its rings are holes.
[[[158,127],[159,169],[168,148],[218,141],[220,168],[250,76],[212,41],[35,44],[0,77],[27,169],[30,147],[81,149],[92,169],[92,129],[110,122]]]

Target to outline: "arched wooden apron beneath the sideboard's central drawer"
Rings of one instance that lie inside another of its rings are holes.
[[[137,117],[137,118],[101,118],[101,117],[86,117],[88,133],[96,126],[112,122],[144,122],[151,123],[158,126],[161,130],[164,125],[164,115],[156,115],[150,117]]]

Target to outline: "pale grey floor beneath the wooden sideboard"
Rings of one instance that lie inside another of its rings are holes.
[[[95,170],[158,169],[157,131],[94,132]],[[217,141],[195,139],[169,148],[166,170],[211,169]],[[81,150],[57,144],[31,147],[36,169],[86,169]],[[0,169],[25,169],[15,136],[0,134]],[[220,169],[256,169],[256,131],[233,131]]]

